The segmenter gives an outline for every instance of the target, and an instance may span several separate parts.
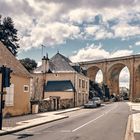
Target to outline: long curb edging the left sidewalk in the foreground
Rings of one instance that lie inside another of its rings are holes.
[[[68,117],[69,116],[64,116],[64,117],[61,117],[61,118],[58,118],[58,119],[54,119],[54,120],[50,120],[50,121],[45,121],[45,122],[41,122],[41,123],[37,123],[37,124],[32,124],[32,125],[29,125],[29,126],[22,126],[21,128],[15,128],[15,129],[13,128],[11,130],[2,130],[2,132],[0,132],[0,136],[6,135],[6,134],[15,133],[15,132],[19,132],[21,130],[25,130],[25,129],[32,128],[32,127],[35,127],[35,126],[39,126],[39,125],[42,125],[42,124],[46,124],[46,123],[50,123],[50,122],[66,119]]]

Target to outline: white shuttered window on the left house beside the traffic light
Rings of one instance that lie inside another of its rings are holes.
[[[11,84],[10,87],[6,88],[6,95],[5,95],[5,105],[6,106],[13,106],[14,105],[14,84]]]

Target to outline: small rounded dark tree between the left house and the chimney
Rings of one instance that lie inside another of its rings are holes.
[[[37,67],[36,61],[30,58],[21,59],[20,62],[29,72]]]

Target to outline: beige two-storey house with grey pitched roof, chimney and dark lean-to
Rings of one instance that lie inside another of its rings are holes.
[[[81,106],[88,101],[89,79],[84,70],[59,52],[51,59],[44,56],[33,81],[36,90],[32,98],[48,100],[52,110]]]

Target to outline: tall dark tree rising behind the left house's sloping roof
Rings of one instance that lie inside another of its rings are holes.
[[[5,17],[3,21],[0,16],[0,41],[7,47],[7,49],[16,56],[18,45],[17,29],[10,17]]]

